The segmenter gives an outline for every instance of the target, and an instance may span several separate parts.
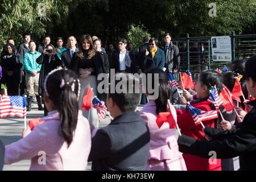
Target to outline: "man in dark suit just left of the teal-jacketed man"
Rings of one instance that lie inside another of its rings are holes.
[[[18,53],[20,54],[20,57],[22,59],[22,63],[23,63],[23,59],[24,59],[24,55],[25,53],[27,53],[28,51],[30,51],[30,48],[28,46],[28,43],[30,42],[30,33],[24,33],[23,35],[23,43],[20,44],[19,46],[19,50]],[[22,71],[22,82],[20,83],[20,95],[22,96],[23,94],[25,94],[26,92],[26,81],[25,81],[25,77],[26,77],[26,72]]]

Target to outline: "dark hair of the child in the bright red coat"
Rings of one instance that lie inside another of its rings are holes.
[[[222,76],[220,73],[213,71],[213,70],[204,71],[204,72],[200,73],[199,79],[204,85],[207,86],[208,89],[210,87],[216,85],[218,93],[221,92]]]

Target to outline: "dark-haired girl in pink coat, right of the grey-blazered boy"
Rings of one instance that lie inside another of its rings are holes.
[[[167,122],[158,126],[156,119],[159,113],[168,112],[167,100],[171,100],[172,91],[168,85],[168,75],[162,69],[151,69],[151,81],[153,86],[159,88],[159,96],[156,100],[149,100],[141,110],[141,117],[150,130],[150,151],[148,154],[146,170],[184,171],[187,170],[182,154],[179,152],[175,138],[176,129],[170,129]],[[158,83],[154,77],[159,76]],[[154,94],[154,93],[152,93]],[[148,96],[148,93],[146,93]],[[176,120],[176,111],[172,107],[172,117]],[[174,112],[173,112],[174,111]]]

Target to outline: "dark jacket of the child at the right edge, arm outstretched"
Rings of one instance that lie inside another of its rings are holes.
[[[237,130],[224,132],[205,127],[205,134],[212,138],[210,142],[181,135],[177,141],[179,150],[203,158],[209,158],[210,151],[215,151],[220,159],[240,156],[240,170],[256,170],[256,100],[248,104],[253,109],[236,126]]]

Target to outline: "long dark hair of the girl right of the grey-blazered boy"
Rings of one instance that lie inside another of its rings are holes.
[[[156,105],[156,114],[159,114],[160,112],[166,112],[167,111],[167,100],[169,99],[172,101],[172,90],[168,84],[168,74],[164,72],[162,69],[155,68],[155,69],[150,69],[149,71],[146,72],[146,74],[152,73],[152,79],[149,80],[152,83],[152,86],[154,89],[155,83],[154,83],[154,77],[155,74],[158,74],[159,80],[158,80],[158,85],[156,85],[159,88],[159,96],[155,100],[155,105]],[[148,82],[149,77],[147,76],[147,82]]]

